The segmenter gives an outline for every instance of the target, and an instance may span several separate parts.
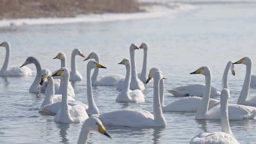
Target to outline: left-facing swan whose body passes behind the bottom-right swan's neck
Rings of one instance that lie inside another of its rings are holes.
[[[191,74],[202,74],[205,76],[205,91],[203,98],[199,104],[199,107],[196,112],[196,119],[220,119],[220,106],[215,106],[209,108],[209,99],[210,99],[210,84],[211,84],[211,72],[210,69],[206,66],[203,66],[191,72]],[[256,108],[238,105],[238,104],[229,104],[229,119],[239,120],[239,119],[254,119],[256,117]]]

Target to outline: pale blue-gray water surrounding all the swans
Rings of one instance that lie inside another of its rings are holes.
[[[43,68],[60,68],[53,57],[65,52],[70,66],[73,48],[85,55],[96,52],[100,63],[108,69],[100,74],[125,74],[119,63],[129,58],[129,45],[148,44],[148,70],[160,68],[167,80],[165,90],[194,82],[204,82],[202,75],[190,72],[206,65],[212,71],[213,86],[220,89],[224,67],[229,60],[243,56],[256,60],[256,3],[204,3],[197,9],[163,18],[42,25],[0,28],[0,41],[12,47],[10,65],[21,65],[27,56],[35,56]],[[5,51],[0,53],[0,64]],[[141,71],[143,51],[136,51],[137,71]],[[77,57],[79,71],[85,77],[86,63]],[[253,70],[256,64],[253,63]],[[35,71],[34,65],[29,65]],[[231,99],[235,103],[241,90],[245,65],[236,65],[236,76],[229,74]],[[253,72],[254,73],[254,72]],[[35,76],[35,75],[34,75]],[[44,95],[29,93],[32,77],[0,77],[0,143],[1,144],[75,144],[82,124],[59,124],[52,116],[38,114]],[[74,84],[75,98],[84,103],[86,81]],[[250,90],[256,95],[256,90]],[[121,108],[143,108],[152,112],[152,83],[146,85],[146,102],[141,104],[116,103],[119,91],[115,87],[93,87],[93,95],[100,113]],[[165,91],[165,104],[175,99]],[[139,129],[106,126],[113,137],[92,133],[90,144],[188,144],[201,132],[220,131],[218,120],[195,120],[195,113],[165,112],[167,128]],[[241,144],[256,141],[256,120],[230,121],[231,129]]]

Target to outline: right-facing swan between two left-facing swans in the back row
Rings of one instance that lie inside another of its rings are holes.
[[[72,55],[71,55],[71,72],[70,72],[69,81],[82,81],[82,75],[76,69],[76,63],[75,63],[76,55],[80,55],[80,56],[84,57],[81,50],[79,50],[77,48],[73,49]]]

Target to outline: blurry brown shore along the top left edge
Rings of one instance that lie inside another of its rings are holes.
[[[0,19],[139,12],[137,0],[0,0]]]

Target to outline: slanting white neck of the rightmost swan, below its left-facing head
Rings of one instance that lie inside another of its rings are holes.
[[[249,86],[251,83],[251,72],[252,72],[252,62],[246,64],[246,77],[241,90],[240,96],[238,98],[238,104],[243,104],[246,102],[249,94]]]

